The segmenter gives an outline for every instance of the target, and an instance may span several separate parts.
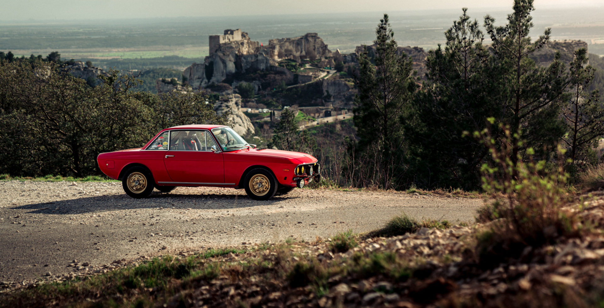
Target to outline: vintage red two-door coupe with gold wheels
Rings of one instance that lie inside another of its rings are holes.
[[[184,125],[159,132],[140,149],[100,153],[98,167],[122,181],[130,197],[149,196],[153,188],[177,186],[245,188],[267,200],[318,181],[320,166],[311,155],[257,149],[223,125]]]

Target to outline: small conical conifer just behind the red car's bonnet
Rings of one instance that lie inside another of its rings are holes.
[[[316,140],[307,130],[300,130],[295,117],[296,114],[289,108],[281,112],[281,118],[275,124],[272,140],[268,146],[280,150],[312,154],[316,146]]]

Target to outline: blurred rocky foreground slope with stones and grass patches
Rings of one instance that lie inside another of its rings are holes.
[[[557,237],[551,245],[539,248],[527,246],[513,258],[505,258],[503,252],[505,261],[500,263],[485,260],[477,249],[490,223],[420,228],[411,234],[367,239],[339,234],[331,239],[288,240],[213,254],[183,251],[154,260],[116,260],[111,265],[89,266],[93,274],[83,281],[48,277],[45,279],[58,286],[32,284],[25,290],[13,290],[4,295],[2,303],[83,307],[601,307],[604,236],[599,230],[604,226],[604,200],[596,198],[571,210],[585,226],[582,236]],[[83,264],[75,262],[73,266]],[[149,273],[155,280],[149,280]]]

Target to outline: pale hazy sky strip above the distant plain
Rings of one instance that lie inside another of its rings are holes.
[[[355,11],[512,8],[513,0],[1,0],[0,24],[24,20],[239,16]],[[604,0],[535,0],[536,8],[604,6]]]

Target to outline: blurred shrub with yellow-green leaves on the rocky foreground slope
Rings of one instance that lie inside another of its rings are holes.
[[[571,237],[578,232],[574,216],[562,210],[568,199],[568,174],[564,173],[562,162],[553,171],[546,170],[545,161],[524,162],[518,156],[513,163],[512,133],[502,124],[499,128],[504,134],[502,142],[492,138],[489,130],[475,132],[493,161],[481,168],[483,189],[503,196],[478,211],[479,222],[501,218],[477,241],[481,263],[490,265],[519,257],[526,246],[541,246],[554,242],[558,236]],[[527,149],[527,153],[532,155],[534,151]],[[564,150],[559,147],[559,157],[563,156]]]

